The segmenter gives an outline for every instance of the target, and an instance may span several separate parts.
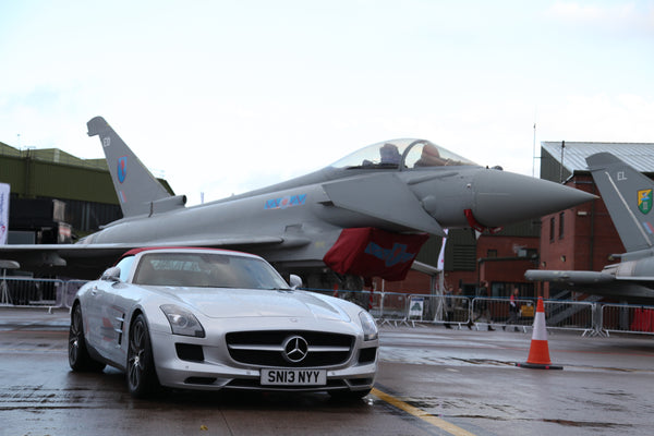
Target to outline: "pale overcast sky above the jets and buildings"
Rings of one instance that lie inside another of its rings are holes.
[[[398,137],[654,143],[654,1],[2,1],[0,60],[1,142],[98,158],[102,116],[191,204]]]

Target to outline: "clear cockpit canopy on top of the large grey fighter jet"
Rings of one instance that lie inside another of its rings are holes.
[[[332,164],[334,168],[413,169],[444,166],[477,166],[425,140],[392,140],[368,145]]]

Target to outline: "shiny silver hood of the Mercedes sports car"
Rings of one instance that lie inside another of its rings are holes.
[[[313,317],[349,322],[348,314],[328,298],[303,291],[194,288],[174,296],[209,318]]]

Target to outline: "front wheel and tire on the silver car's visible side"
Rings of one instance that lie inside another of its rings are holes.
[[[159,388],[149,330],[143,314],[137,315],[130,327],[128,387],[136,398],[147,398]]]

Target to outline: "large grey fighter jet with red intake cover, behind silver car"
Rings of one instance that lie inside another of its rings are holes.
[[[0,257],[90,278],[132,247],[210,246],[259,254],[282,272],[390,279],[445,228],[497,229],[594,198],[481,167],[425,140],[393,140],[293,180],[186,207],[101,117],[87,128],[99,136],[123,218],[75,244],[7,245]]]

